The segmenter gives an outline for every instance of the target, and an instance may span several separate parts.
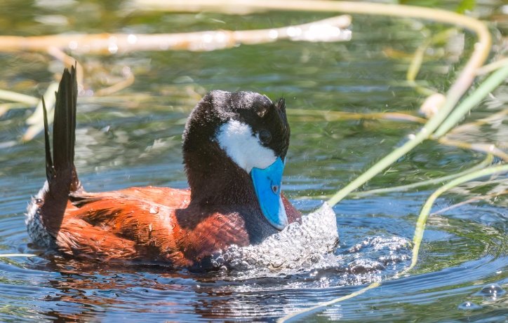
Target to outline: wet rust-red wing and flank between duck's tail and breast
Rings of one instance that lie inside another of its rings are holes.
[[[185,266],[175,245],[175,209],[121,191],[76,193],[56,234],[60,251],[91,259],[170,261]]]

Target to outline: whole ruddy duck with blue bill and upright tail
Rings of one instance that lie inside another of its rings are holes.
[[[74,166],[75,67],[64,70],[55,95],[53,149],[43,101],[46,181],[27,209],[35,245],[76,259],[208,270],[214,252],[257,245],[301,221],[281,193],[290,139],[283,98],[208,92],[182,135],[189,188],[91,193]]]

